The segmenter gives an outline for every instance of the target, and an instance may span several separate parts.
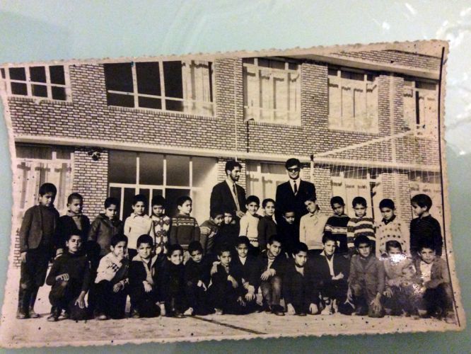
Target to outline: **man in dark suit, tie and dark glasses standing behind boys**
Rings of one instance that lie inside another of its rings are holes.
[[[277,187],[275,219],[278,223],[284,222],[284,212],[294,211],[295,222],[299,224],[301,217],[308,212],[304,202],[308,198],[315,198],[315,186],[313,183],[301,181],[301,162],[298,159],[288,159],[284,166],[288,171],[289,181]]]

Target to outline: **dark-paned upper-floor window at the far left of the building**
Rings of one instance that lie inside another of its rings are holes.
[[[3,67],[0,72],[8,95],[59,101],[70,97],[69,73],[64,65]]]

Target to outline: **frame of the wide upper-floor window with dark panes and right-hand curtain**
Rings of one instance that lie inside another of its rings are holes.
[[[215,87],[215,82],[214,82],[214,62],[207,61],[207,60],[202,60],[202,62],[207,62],[209,64],[209,67],[211,67],[211,75],[210,75],[210,80],[209,80],[209,86],[211,88],[211,100],[212,101],[197,101],[197,100],[191,100],[191,99],[185,99],[185,98],[177,98],[177,97],[170,97],[170,96],[165,96],[165,78],[164,78],[164,69],[163,69],[163,63],[164,62],[185,62],[186,64],[191,64],[194,62],[194,59],[189,59],[189,60],[153,60],[151,61],[152,63],[158,63],[158,74],[159,74],[159,80],[160,80],[160,85],[161,85],[161,95],[150,95],[147,93],[139,93],[138,91],[138,84],[137,84],[137,73],[136,73],[136,64],[139,64],[139,62],[129,62],[131,64],[131,73],[132,73],[132,92],[126,92],[126,91],[116,91],[116,90],[108,90],[106,89],[106,76],[105,76],[105,91],[106,93],[114,93],[122,96],[133,96],[134,98],[134,107],[127,107],[123,105],[110,105],[107,103],[109,107],[119,107],[119,108],[130,108],[130,109],[145,109],[145,110],[156,110],[159,112],[165,112],[165,113],[180,113],[180,114],[190,114],[194,115],[191,112],[185,112],[185,111],[180,111],[180,110],[167,110],[166,109],[166,101],[180,101],[180,102],[189,102],[189,103],[204,103],[207,105],[212,106],[212,111],[213,115],[201,115],[201,116],[207,116],[207,117],[214,117],[216,115],[216,104],[214,102],[214,87]],[[149,62],[149,61],[141,61],[141,62]],[[119,62],[119,63],[104,63],[103,65],[106,64],[127,64],[128,62]],[[184,79],[182,79],[184,81]],[[139,97],[143,98],[156,98],[161,100],[161,109],[158,108],[149,108],[149,107],[141,107],[139,106]]]

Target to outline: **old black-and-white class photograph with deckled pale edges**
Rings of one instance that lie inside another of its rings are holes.
[[[465,326],[448,43],[0,65],[2,346]]]

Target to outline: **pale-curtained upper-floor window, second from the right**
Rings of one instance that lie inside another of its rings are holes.
[[[329,69],[329,128],[378,132],[378,76]]]

